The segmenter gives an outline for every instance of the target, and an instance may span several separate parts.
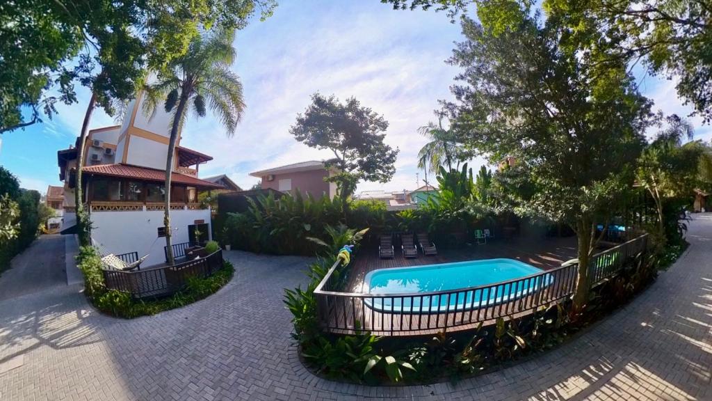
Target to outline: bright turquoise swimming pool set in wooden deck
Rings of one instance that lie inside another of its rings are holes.
[[[365,298],[365,304],[380,312],[397,313],[471,310],[521,298],[551,285],[553,276],[540,274],[543,271],[504,258],[377,269],[364,278],[365,292],[375,295]],[[518,279],[525,280],[503,283]],[[487,287],[496,283],[503,284]],[[425,294],[449,290],[452,292],[447,294]]]

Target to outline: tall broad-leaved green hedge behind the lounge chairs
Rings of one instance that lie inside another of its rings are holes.
[[[216,219],[216,232],[223,233],[223,242],[235,249],[256,253],[313,255],[318,248],[307,238],[325,238],[327,226],[340,224],[369,228],[367,243],[375,243],[382,233],[408,231],[429,233],[439,245],[446,245],[451,233],[492,227],[481,214],[436,200],[400,212],[387,211],[383,202],[373,200],[350,201],[344,210],[338,197],[315,199],[300,193],[280,198],[270,193],[247,200],[246,212],[226,213]]]

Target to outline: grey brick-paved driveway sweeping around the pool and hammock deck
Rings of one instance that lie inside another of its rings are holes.
[[[585,335],[456,386],[306,372],[281,304],[282,288],[303,281],[303,258],[229,253],[237,275],[219,293],[135,320],[52,288],[0,302],[0,400],[712,400],[712,214],[696,215],[689,240],[669,272]]]

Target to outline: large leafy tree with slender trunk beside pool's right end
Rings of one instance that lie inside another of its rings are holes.
[[[515,1],[478,2],[477,23],[451,64],[461,141],[493,163],[514,156],[533,185],[515,211],[570,225],[577,234],[575,310],[587,302],[595,225],[609,200],[632,185],[649,101],[624,63],[595,64],[562,46],[561,31]]]

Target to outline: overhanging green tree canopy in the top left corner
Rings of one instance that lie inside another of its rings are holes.
[[[73,81],[111,97],[130,98],[146,67],[182,56],[204,29],[239,29],[275,0],[19,0],[0,4],[0,132],[51,116],[56,101],[76,101]],[[95,72],[100,71],[100,72]],[[23,107],[33,117],[26,121]]]

